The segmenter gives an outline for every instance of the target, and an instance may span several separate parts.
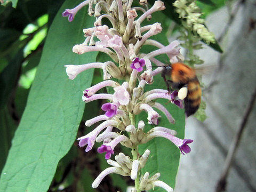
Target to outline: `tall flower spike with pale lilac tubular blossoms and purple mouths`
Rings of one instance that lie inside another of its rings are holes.
[[[132,7],[132,3],[133,0],[86,0],[74,9],[66,9],[63,12],[63,17],[68,17],[68,21],[71,22],[75,19],[78,10],[89,5],[89,15],[96,17],[94,27],[83,29],[85,41],[75,45],[73,52],[83,54],[99,51],[106,53],[112,59],[111,61],[84,65],[65,65],[67,75],[72,80],[87,69],[102,69],[103,81],[85,89],[82,99],[86,103],[99,99],[109,101],[101,106],[101,109],[106,111],[104,115],[99,115],[85,122],[86,126],[101,123],[90,133],[78,138],[79,146],[86,147],[85,151],[87,152],[93,148],[95,141],[102,142],[98,148],[98,153],[106,153],[105,158],[110,167],[102,171],[94,180],[93,188],[97,188],[106,175],[116,173],[131,177],[134,180],[133,192],[150,190],[155,187],[173,191],[169,185],[159,180],[160,173],[150,175],[149,172],[145,172],[141,174],[140,170],[145,166],[150,151],[147,149],[143,151],[143,154],[140,154],[139,146],[156,137],[163,137],[173,142],[181,154],[190,152],[188,144],[193,140],[179,139],[175,137],[176,131],[168,129],[168,127],[157,126],[161,116],[155,110],[162,111],[170,124],[174,124],[175,120],[179,121],[179,119],[174,119],[165,106],[155,100],[166,99],[177,106],[178,110],[183,108],[182,99],[186,95],[182,92],[168,92],[163,89],[144,91],[145,86],[153,84],[154,77],[161,74],[164,69],[165,63],[156,59],[157,55],[166,54],[171,63],[182,61],[183,57],[177,47],[178,41],[164,46],[153,39],[149,39],[151,36],[161,33],[161,23],[156,22],[153,25],[141,26],[142,21],[150,19],[152,13],[164,10],[164,3],[155,1],[150,9],[148,9],[145,0],[140,1],[142,7]],[[142,11],[143,14],[138,17],[137,11]],[[108,19],[111,26],[103,25],[103,18]],[[153,45],[158,49],[147,54],[142,53],[141,47],[143,45]],[[157,66],[154,70],[153,63]],[[110,80],[112,77],[117,80]],[[119,83],[121,81],[123,83]],[[97,91],[104,87],[111,87],[114,93],[97,94]],[[143,130],[147,126],[143,119],[140,119],[138,125],[135,122],[142,111],[147,113],[146,124],[155,125],[148,132]],[[114,132],[113,127],[116,127],[118,132]],[[110,159],[119,143],[131,149],[132,158],[129,154],[119,153],[115,156],[115,161]]]

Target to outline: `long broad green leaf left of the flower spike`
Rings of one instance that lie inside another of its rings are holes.
[[[27,107],[1,174],[0,191],[46,191],[59,160],[76,138],[84,110],[82,91],[90,86],[93,70],[71,81],[63,65],[93,62],[97,54],[71,51],[73,45],[83,42],[82,29],[91,27],[94,21],[86,9],[71,23],[62,18],[63,10],[78,3],[66,1],[51,25]]]

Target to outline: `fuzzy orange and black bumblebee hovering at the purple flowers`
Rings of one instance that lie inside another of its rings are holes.
[[[169,92],[173,89],[180,90],[182,87],[187,87],[187,97],[184,100],[186,115],[190,116],[196,113],[201,104],[202,89],[194,69],[177,62],[164,67],[162,77]]]

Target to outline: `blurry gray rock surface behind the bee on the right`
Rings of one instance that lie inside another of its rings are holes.
[[[206,25],[217,39],[223,34],[229,15],[226,7],[212,13]],[[191,153],[181,156],[174,191],[214,191],[223,169],[231,141],[241,124],[246,107],[256,87],[256,2],[240,4],[234,21],[223,36],[221,55],[205,46],[197,54],[206,64],[219,63],[221,68],[213,76],[204,76],[209,84],[217,84],[204,92],[208,118],[204,123],[189,117],[186,122],[187,139],[194,139]],[[256,191],[256,105],[242,136],[233,167],[228,176],[227,191]]]

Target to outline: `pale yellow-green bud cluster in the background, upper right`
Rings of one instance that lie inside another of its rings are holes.
[[[200,18],[199,7],[194,0],[176,0],[173,6],[177,7],[176,12],[179,18],[186,19],[187,26],[193,28],[196,33],[206,41],[206,43],[215,43],[214,35],[204,26],[204,19]]]

